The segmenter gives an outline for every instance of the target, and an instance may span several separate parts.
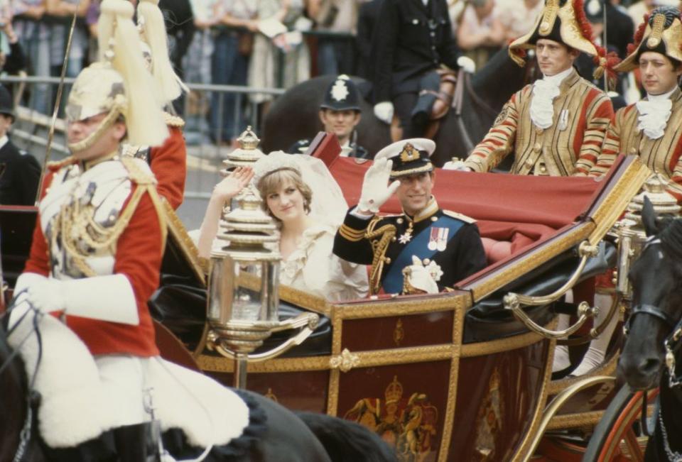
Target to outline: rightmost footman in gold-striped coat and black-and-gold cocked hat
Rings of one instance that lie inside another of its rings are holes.
[[[615,70],[637,69],[646,98],[620,109],[607,131],[591,175],[604,175],[619,153],[639,155],[668,180],[668,191],[682,202],[682,23],[680,11],[661,6],[644,16],[630,55]]]

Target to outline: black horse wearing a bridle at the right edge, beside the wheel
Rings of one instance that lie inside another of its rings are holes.
[[[682,461],[682,369],[678,354],[682,336],[682,219],[657,220],[647,199],[642,221],[648,240],[629,273],[632,311],[617,373],[619,380],[634,390],[660,387],[660,411],[644,459],[678,462]]]

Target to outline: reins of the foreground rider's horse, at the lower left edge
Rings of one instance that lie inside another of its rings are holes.
[[[25,290],[19,292],[16,294],[13,299],[16,301],[20,295],[23,294]],[[28,303],[28,302],[26,302]],[[0,322],[4,322],[4,317],[9,316],[9,314],[12,312],[14,308],[16,308],[16,304],[11,304],[7,311],[4,312],[3,314],[0,315]],[[42,336],[40,335],[40,329],[38,328],[38,323],[40,322],[40,318],[43,317],[43,313],[40,313],[37,309],[31,307],[30,309],[26,310],[21,317],[16,321],[16,323],[9,328],[6,333],[5,333],[5,338],[9,338],[9,336],[12,334],[14,329],[16,329],[16,326],[21,324],[23,320],[28,316],[29,313],[33,313],[33,319],[32,319],[32,324],[33,328],[31,331],[26,334],[26,336],[21,339],[21,342],[18,343],[16,348],[12,348],[11,352],[9,353],[9,356],[5,359],[4,363],[0,365],[0,375],[5,372],[6,369],[9,368],[9,365],[13,363],[13,361],[16,359],[18,356],[18,352],[21,350],[21,346],[23,346],[26,341],[31,338],[31,335],[35,332],[36,333],[36,339],[38,341],[38,357],[36,358],[36,370],[33,373],[33,378],[31,378],[30,383],[28,384],[28,390],[26,392],[26,419],[23,421],[23,426],[21,427],[21,431],[19,433],[19,444],[16,448],[16,452],[14,453],[14,457],[12,458],[12,462],[21,462],[23,461],[24,456],[26,456],[26,449],[28,448],[28,443],[31,441],[31,429],[33,426],[33,405],[35,405],[38,400],[40,399],[40,395],[38,392],[34,390],[33,385],[36,383],[36,376],[38,375],[38,368],[40,367],[40,360],[43,357],[43,339]]]

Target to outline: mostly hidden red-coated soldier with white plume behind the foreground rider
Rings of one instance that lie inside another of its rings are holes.
[[[172,107],[172,102],[186,89],[180,77],[175,74],[168,59],[168,40],[163,13],[158,0],[141,0],[137,6],[138,27],[141,33],[142,50],[156,87],[161,92],[163,106]],[[123,155],[145,160],[151,167],[158,184],[158,194],[165,197],[173,209],[178,209],[185,195],[187,178],[187,147],[183,136],[185,121],[179,116],[163,112],[170,135],[161,146],[124,145]]]

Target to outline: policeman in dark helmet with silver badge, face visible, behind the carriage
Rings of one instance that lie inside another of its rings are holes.
[[[327,133],[334,133],[341,145],[341,157],[369,157],[367,150],[357,145],[355,127],[362,118],[360,109],[360,93],[354,82],[347,75],[338,76],[327,88],[325,99],[320,104],[320,121]],[[310,147],[310,140],[294,143],[289,152],[305,153]]]

